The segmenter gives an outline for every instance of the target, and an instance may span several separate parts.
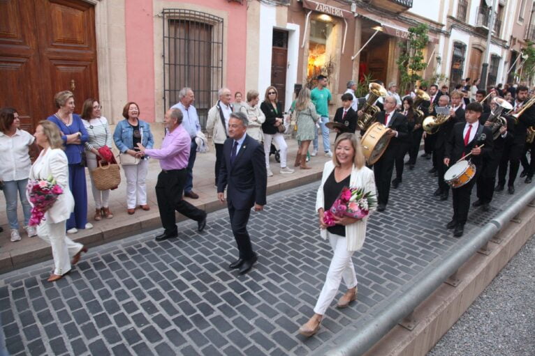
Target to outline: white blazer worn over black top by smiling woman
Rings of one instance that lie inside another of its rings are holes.
[[[321,184],[318,188],[318,194],[316,195],[316,212],[320,208],[324,208],[325,203],[323,198],[323,185],[325,184],[325,180],[329,178],[334,169],[335,164],[332,161],[325,162],[325,167],[323,167],[323,176],[321,176]],[[377,199],[374,172],[366,166],[358,169],[353,165],[351,178],[349,178],[349,187],[364,188],[365,192],[372,192]],[[359,249],[362,249],[362,245],[364,245],[364,240],[366,238],[367,220],[369,215],[372,215],[372,210],[375,209],[376,208],[370,209],[368,216],[358,220],[358,222],[346,225],[346,241],[348,251],[358,251]],[[320,234],[322,238],[327,238],[327,229],[320,229]]]

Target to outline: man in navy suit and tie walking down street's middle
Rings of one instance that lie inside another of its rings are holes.
[[[268,185],[264,148],[247,135],[248,123],[245,114],[230,114],[229,138],[223,144],[223,162],[217,180],[217,198],[221,203],[225,202],[223,192],[227,188],[230,226],[240,251],[237,261],[230,263],[229,267],[239,268],[240,274],[249,272],[257,260],[247,232],[247,222],[253,206],[255,211],[263,210]]]

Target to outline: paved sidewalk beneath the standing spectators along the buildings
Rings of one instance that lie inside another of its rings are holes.
[[[334,134],[331,138],[334,141]],[[297,142],[294,139],[288,139],[288,166],[293,167],[295,153],[297,153]],[[159,145],[156,144],[158,147]],[[281,189],[297,187],[305,183],[310,183],[321,178],[323,164],[330,160],[323,153],[317,157],[312,157],[309,165],[312,169],[301,170],[295,169],[293,174],[279,173],[280,164],[275,162],[274,156],[270,157],[270,166],[274,176],[268,178],[268,193],[277,192]],[[217,201],[217,190],[214,187],[214,150],[209,153],[198,154],[193,168],[193,191],[199,194],[199,199],[186,198],[198,208],[212,212],[221,208],[221,203]],[[91,182],[89,181],[89,172],[87,172],[87,194],[88,194],[88,222],[94,225],[94,229],[80,230],[76,234],[69,235],[75,241],[85,245],[95,246],[105,242],[117,240],[130,236],[142,231],[157,229],[161,226],[158,206],[156,204],[156,193],[154,186],[161,169],[158,160],[149,161],[149,173],[147,175],[147,199],[151,206],[150,211],[141,209],[135,210],[135,215],[126,213],[126,179],[122,173],[122,183],[118,189],[110,194],[110,210],[115,215],[113,219],[103,219],[96,222],[94,216],[94,200],[91,193]],[[268,202],[269,203],[269,202]],[[19,219],[22,224],[22,208],[19,204]],[[185,219],[182,215],[177,214],[177,221]],[[210,223],[210,217],[208,222]],[[21,268],[32,263],[45,261],[51,258],[52,253],[50,246],[45,244],[39,238],[28,238],[26,233],[21,231],[22,240],[10,242],[9,225],[6,216],[6,201],[3,194],[0,194],[0,226],[4,232],[0,234],[0,273]]]

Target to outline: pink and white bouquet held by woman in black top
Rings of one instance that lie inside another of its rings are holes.
[[[334,217],[348,216],[362,219],[367,217],[369,209],[375,205],[376,199],[372,192],[364,192],[362,188],[344,187],[331,208],[323,214],[323,222],[327,226],[335,226]]]

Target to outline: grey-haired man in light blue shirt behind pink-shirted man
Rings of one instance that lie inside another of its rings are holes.
[[[197,143],[195,138],[197,137],[197,132],[200,131],[199,116],[197,115],[197,109],[193,105],[193,100],[195,100],[195,95],[191,88],[182,88],[178,92],[178,99],[180,100],[177,104],[173,105],[171,109],[179,109],[182,111],[182,125],[184,129],[189,134],[191,139],[191,148],[189,150],[189,160],[188,160],[188,177],[186,179],[186,185],[184,186],[184,196],[187,196],[191,199],[198,199],[198,194],[193,192],[193,164],[195,164],[195,159],[197,157]]]

